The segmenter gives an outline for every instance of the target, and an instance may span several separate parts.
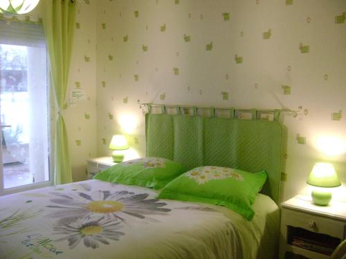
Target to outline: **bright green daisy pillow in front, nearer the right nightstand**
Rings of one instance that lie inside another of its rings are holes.
[[[251,205],[266,182],[266,172],[219,166],[201,166],[179,176],[163,188],[159,199],[205,202],[227,207],[252,220]]]

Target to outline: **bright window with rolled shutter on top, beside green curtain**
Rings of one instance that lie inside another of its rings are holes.
[[[0,20],[0,193],[51,184],[46,60],[42,25]]]

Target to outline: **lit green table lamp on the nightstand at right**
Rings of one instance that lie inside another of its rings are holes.
[[[331,191],[329,188],[340,186],[340,180],[333,164],[330,163],[316,163],[307,179],[307,184],[312,186],[322,187],[313,189],[311,197],[313,203],[326,206],[331,200]]]

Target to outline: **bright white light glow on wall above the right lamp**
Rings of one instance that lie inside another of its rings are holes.
[[[346,153],[346,142],[341,137],[325,135],[318,137],[316,142],[319,151],[325,155],[343,155]]]

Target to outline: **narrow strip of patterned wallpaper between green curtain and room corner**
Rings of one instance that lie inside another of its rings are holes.
[[[95,1],[78,1],[64,112],[73,181],[86,179],[86,160],[97,156],[95,8]]]

